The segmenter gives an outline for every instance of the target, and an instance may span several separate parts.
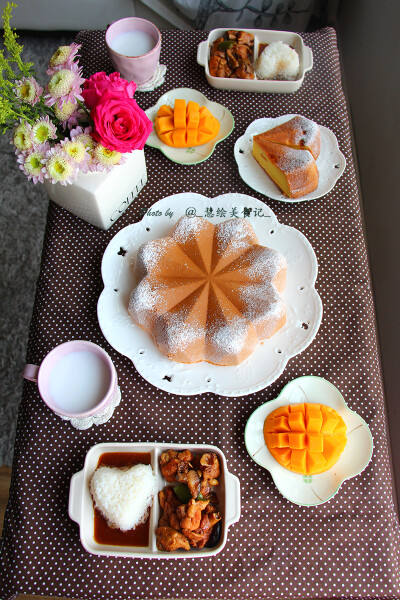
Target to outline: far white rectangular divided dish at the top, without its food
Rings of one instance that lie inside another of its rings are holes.
[[[297,33],[291,31],[275,31],[270,29],[240,29],[254,35],[254,61],[258,58],[258,49],[260,44],[271,44],[279,40],[289,44],[299,55],[300,70],[299,76],[294,81],[281,81],[272,79],[231,79],[229,77],[213,77],[210,75],[208,62],[210,60],[210,47],[212,43],[222,37],[227,29],[213,29],[204,42],[201,42],[197,48],[197,62],[204,67],[208,83],[220,90],[236,90],[239,92],[268,92],[270,94],[290,94],[298,90],[307,71],[312,69],[313,55],[312,50],[305,46],[303,39]],[[238,29],[239,31],[239,29]]]

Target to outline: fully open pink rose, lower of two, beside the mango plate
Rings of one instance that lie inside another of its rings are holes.
[[[109,150],[142,150],[153,124],[133,98],[107,99],[92,109],[92,137]]]

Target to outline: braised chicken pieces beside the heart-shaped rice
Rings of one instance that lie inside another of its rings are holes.
[[[221,534],[218,499],[212,491],[221,472],[217,455],[168,450],[161,454],[160,467],[165,479],[178,485],[159,492],[157,548],[173,552],[215,546]]]

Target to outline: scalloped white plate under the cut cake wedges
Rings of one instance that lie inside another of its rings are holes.
[[[244,135],[236,140],[234,153],[239,168],[239,175],[245,183],[256,192],[281,202],[304,202],[325,196],[336,184],[346,168],[346,159],[339,150],[335,134],[320,125],[321,152],[317,158],[319,183],[316,190],[301,198],[288,198],[270,179],[264,169],[253,156],[253,136],[263,133],[277,125],[281,125],[296,115],[282,115],[274,119],[256,119],[246,129]]]

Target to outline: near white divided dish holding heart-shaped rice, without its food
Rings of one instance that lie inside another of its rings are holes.
[[[215,491],[219,500],[219,512],[222,517],[222,533],[219,543],[214,548],[191,548],[176,552],[162,552],[156,547],[155,531],[160,516],[158,497],[154,498],[150,512],[149,545],[143,548],[134,546],[113,546],[98,544],[94,540],[94,510],[89,491],[90,479],[97,467],[100,456],[105,452],[150,452],[151,466],[157,478],[158,489],[167,484],[161,474],[159,458],[162,452],[173,449],[182,451],[189,449],[193,453],[215,452],[221,465],[219,485]],[[228,472],[224,454],[216,446],[205,444],[160,444],[160,443],[104,443],[90,448],[86,454],[83,469],[71,478],[69,488],[68,513],[73,521],[79,524],[82,546],[91,554],[101,556],[124,556],[128,558],[204,558],[221,552],[226,544],[228,527],[240,518],[240,483],[239,479]]]

